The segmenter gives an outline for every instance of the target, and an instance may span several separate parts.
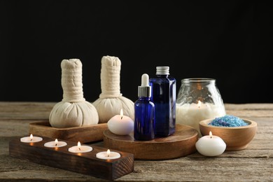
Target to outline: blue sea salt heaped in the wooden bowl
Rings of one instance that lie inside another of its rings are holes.
[[[241,127],[248,125],[248,123],[236,116],[225,115],[220,118],[215,118],[208,125],[213,125],[216,127]]]

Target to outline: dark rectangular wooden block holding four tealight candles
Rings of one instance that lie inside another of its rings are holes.
[[[120,153],[120,158],[102,160],[96,158],[96,154],[107,151],[108,148],[90,145],[93,150],[88,153],[71,153],[68,149],[71,146],[77,146],[77,143],[73,141],[65,141],[67,145],[59,148],[44,146],[46,142],[54,140],[43,137],[43,141],[24,143],[20,141],[20,138],[13,139],[9,143],[9,154],[14,158],[27,159],[41,165],[108,180],[118,179],[134,170],[134,155],[132,153],[116,151]]]

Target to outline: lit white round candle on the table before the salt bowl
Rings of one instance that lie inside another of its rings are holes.
[[[209,135],[201,137],[195,144],[199,153],[205,156],[221,155],[226,148],[225,141],[218,136],[213,136],[211,132]]]

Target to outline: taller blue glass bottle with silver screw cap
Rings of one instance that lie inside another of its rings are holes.
[[[155,104],[155,137],[168,137],[176,129],[176,79],[169,76],[169,66],[157,66],[150,85]]]

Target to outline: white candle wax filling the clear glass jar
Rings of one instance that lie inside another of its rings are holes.
[[[202,137],[199,128],[200,121],[221,116],[225,116],[223,106],[216,106],[211,103],[199,101],[198,104],[176,105],[176,123],[194,127],[198,131],[199,137]]]

